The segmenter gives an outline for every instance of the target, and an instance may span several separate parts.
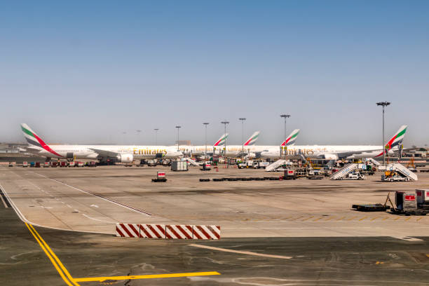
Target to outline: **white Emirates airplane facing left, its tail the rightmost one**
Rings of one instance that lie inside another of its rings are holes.
[[[394,150],[399,149],[402,139],[404,139],[407,125],[402,125],[386,144],[386,153],[394,154]],[[353,158],[375,158],[383,156],[383,146],[372,145],[295,145],[287,148],[287,158],[319,158],[326,160],[353,159]],[[283,156],[283,153],[281,154]],[[261,152],[262,158],[280,158],[280,148]]]

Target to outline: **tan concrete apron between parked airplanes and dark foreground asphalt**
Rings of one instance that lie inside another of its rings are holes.
[[[156,170],[165,170],[168,182],[151,182]],[[27,222],[53,229],[111,234],[122,222],[220,225],[224,238],[429,236],[429,216],[351,209],[354,203],[384,203],[389,191],[428,188],[428,173],[418,173],[416,182],[381,182],[380,175],[364,181],[199,182],[279,175],[236,168],[3,167],[0,187]]]

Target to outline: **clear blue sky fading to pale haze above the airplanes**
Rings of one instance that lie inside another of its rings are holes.
[[[0,10],[0,141],[429,144],[428,1],[17,1]],[[135,130],[142,130],[137,135]],[[126,132],[123,135],[123,132]]]

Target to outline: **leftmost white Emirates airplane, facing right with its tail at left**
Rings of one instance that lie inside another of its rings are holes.
[[[166,146],[135,145],[48,145],[25,123],[21,124],[27,139],[26,152],[44,156],[47,159],[93,159],[131,163],[134,159],[177,158],[183,156],[177,148]]]

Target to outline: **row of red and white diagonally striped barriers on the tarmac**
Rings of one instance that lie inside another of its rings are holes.
[[[123,238],[220,239],[220,226],[116,224],[116,236]]]

